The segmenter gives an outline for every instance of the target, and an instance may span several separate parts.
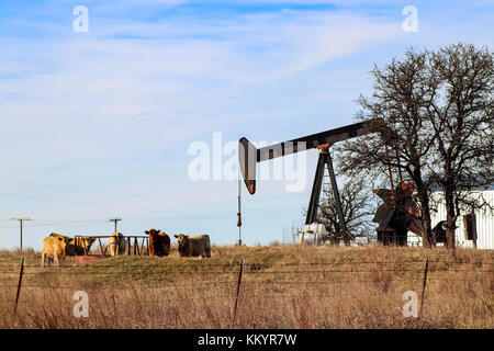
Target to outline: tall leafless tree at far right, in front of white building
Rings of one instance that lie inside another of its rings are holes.
[[[494,181],[494,55],[486,47],[457,44],[430,55],[440,82],[428,120],[437,138],[431,179],[444,190],[447,246],[454,249],[462,210],[484,206],[471,190]]]

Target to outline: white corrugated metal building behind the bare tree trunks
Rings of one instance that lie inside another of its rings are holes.
[[[494,184],[492,184],[487,190],[473,191],[473,195],[482,193],[482,196],[486,202],[494,207]],[[433,194],[434,199],[440,201],[442,199],[442,192],[438,191]],[[431,224],[433,228],[440,220],[446,220],[446,206],[444,201],[439,202],[437,212],[431,213]],[[490,249],[494,250],[494,213],[487,210],[475,211],[475,223],[476,223],[476,248],[478,249]],[[463,216],[459,216],[457,220],[456,230],[457,247],[460,248],[473,248],[473,240],[468,240],[464,225]],[[422,246],[422,238],[413,233],[408,233],[408,246]]]

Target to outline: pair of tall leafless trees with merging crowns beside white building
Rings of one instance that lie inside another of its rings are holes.
[[[494,56],[465,44],[408,49],[403,60],[371,73],[372,97],[360,97],[357,117],[380,118],[375,134],[343,144],[339,151],[347,157],[339,158],[338,167],[350,177],[382,181],[388,176],[391,183],[392,170],[403,171],[416,186],[425,245],[435,244],[430,194],[439,185],[447,246],[453,251],[461,211],[485,205],[471,191],[494,180]]]

